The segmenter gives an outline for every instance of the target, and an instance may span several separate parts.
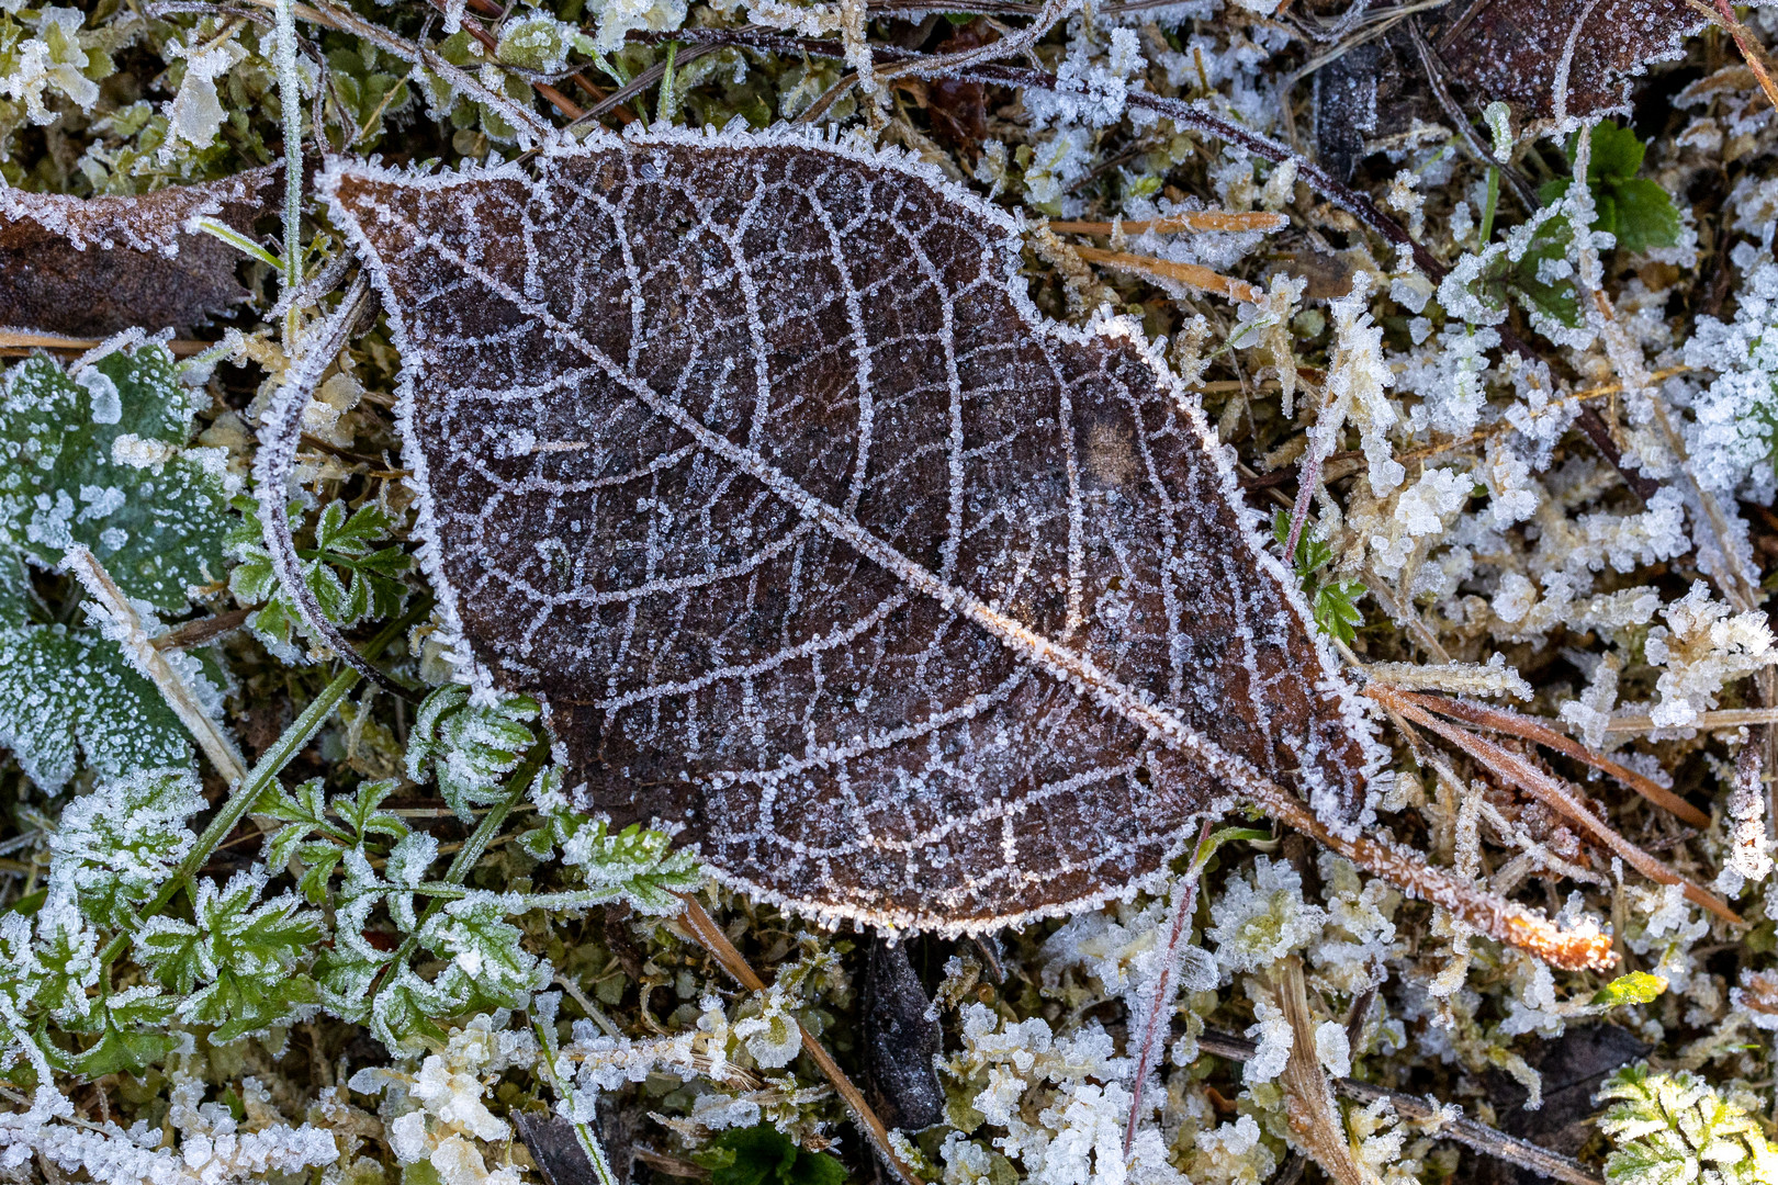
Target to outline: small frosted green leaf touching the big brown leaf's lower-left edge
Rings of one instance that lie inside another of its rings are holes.
[[[535,743],[530,721],[537,700],[505,695],[493,705],[471,704],[469,689],[444,684],[427,696],[407,736],[407,776],[423,782],[437,775],[439,794],[457,817],[473,819],[473,807],[501,796],[500,780],[517,769]]]

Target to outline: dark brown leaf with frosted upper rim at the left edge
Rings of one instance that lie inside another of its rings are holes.
[[[192,220],[251,231],[270,210],[276,165],[139,197],[68,197],[0,187],[0,325],[69,338],[130,327],[190,332],[249,297],[240,252]]]

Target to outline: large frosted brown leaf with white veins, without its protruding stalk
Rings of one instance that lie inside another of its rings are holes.
[[[898,156],[654,133],[334,167],[405,357],[425,563],[583,801],[818,917],[1133,892],[1369,721],[1140,332],[1038,314],[1017,226]]]

